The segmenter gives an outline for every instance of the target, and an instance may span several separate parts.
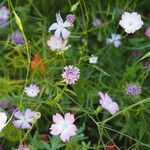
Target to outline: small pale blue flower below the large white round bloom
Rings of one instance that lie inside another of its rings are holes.
[[[113,33],[111,34],[111,38],[106,38],[106,43],[107,44],[113,43],[113,45],[118,48],[121,45],[120,40],[121,40],[121,35]]]

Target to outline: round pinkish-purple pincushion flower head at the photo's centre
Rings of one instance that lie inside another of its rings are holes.
[[[67,84],[75,84],[80,77],[80,70],[74,66],[66,66],[64,69],[65,71],[62,74],[64,81]]]

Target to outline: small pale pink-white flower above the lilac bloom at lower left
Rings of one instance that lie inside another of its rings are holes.
[[[30,97],[35,97],[40,92],[39,87],[35,84],[31,84],[29,87],[25,87],[24,91]]]

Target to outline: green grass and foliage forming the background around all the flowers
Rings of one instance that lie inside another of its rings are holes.
[[[4,150],[15,149],[19,144],[28,144],[31,150],[103,150],[113,143],[120,150],[150,149],[150,73],[143,61],[150,61],[150,41],[144,36],[150,26],[149,0],[4,0],[10,9],[9,23],[0,28],[0,101],[10,102],[5,109],[8,116],[11,108],[31,108],[41,113],[41,118],[31,130],[16,129],[9,124],[0,134]],[[47,46],[48,27],[56,21],[60,11],[62,18],[69,12],[76,20],[69,37],[71,47],[63,54],[52,52]],[[127,35],[118,25],[123,11],[138,12],[144,25],[133,35]],[[102,20],[94,27],[92,21]],[[12,44],[8,35],[19,30],[25,43]],[[115,48],[106,45],[112,33],[122,35],[122,45]],[[132,56],[138,50],[139,56]],[[31,68],[34,56],[39,54],[45,71]],[[90,64],[89,57],[98,56],[97,64]],[[62,72],[67,65],[77,66],[81,71],[75,85],[62,82]],[[24,93],[24,87],[35,83],[40,87],[37,97]],[[125,87],[136,83],[142,88],[141,95],[127,96]],[[114,116],[99,104],[99,91],[108,92],[119,104]],[[75,114],[77,135],[69,142],[59,136],[48,136],[55,113]],[[8,117],[9,118],[9,117]]]

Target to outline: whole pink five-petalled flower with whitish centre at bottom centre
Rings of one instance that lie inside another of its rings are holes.
[[[50,127],[52,135],[60,135],[60,139],[64,142],[69,141],[71,136],[76,135],[76,125],[74,125],[74,115],[66,113],[64,118],[59,114],[53,115],[54,124]]]

